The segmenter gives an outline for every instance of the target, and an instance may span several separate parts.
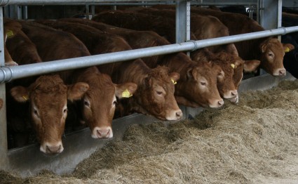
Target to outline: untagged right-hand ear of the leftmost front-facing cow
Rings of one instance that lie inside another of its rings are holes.
[[[67,85],[67,99],[70,101],[79,100],[88,91],[89,85],[84,82]]]

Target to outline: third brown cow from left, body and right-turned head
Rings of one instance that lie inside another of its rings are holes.
[[[36,21],[55,29],[71,32],[86,44],[92,54],[132,49],[122,37],[102,32],[88,25],[50,20]],[[177,72],[169,72],[166,67],[151,69],[141,59],[99,65],[98,68],[101,72],[111,75],[115,82],[133,81],[137,84],[135,95],[129,99],[128,111],[140,112],[161,120],[182,118],[182,111],[174,97],[175,87],[171,81],[177,81],[180,78]]]

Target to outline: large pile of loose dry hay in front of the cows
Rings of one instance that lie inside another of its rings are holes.
[[[298,81],[241,93],[193,120],[133,125],[73,173],[11,183],[291,183],[298,180]],[[9,182],[6,182],[9,183]]]

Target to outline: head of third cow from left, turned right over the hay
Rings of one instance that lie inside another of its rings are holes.
[[[182,111],[174,96],[175,84],[179,78],[180,74],[169,73],[168,67],[151,69],[138,86],[134,98],[137,105],[133,105],[133,110],[161,120],[181,119]]]

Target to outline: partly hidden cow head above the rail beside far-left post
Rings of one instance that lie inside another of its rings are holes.
[[[20,27],[15,24],[11,24],[10,22],[4,23],[4,65],[6,67],[18,66],[13,58],[11,58],[11,54],[8,52],[6,48],[6,41],[7,39],[14,36],[13,32],[18,32]]]

